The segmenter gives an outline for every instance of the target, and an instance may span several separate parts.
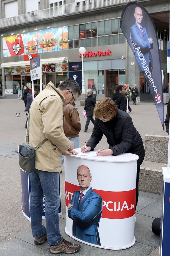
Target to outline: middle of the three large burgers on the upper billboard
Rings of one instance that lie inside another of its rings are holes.
[[[40,46],[42,47],[42,51],[50,51],[55,49],[56,43],[57,41],[54,34],[51,32],[46,32],[42,35]]]

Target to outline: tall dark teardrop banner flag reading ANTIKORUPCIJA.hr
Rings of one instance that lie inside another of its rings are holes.
[[[133,2],[123,9],[120,27],[148,83],[164,130],[162,72],[154,22],[141,4]]]

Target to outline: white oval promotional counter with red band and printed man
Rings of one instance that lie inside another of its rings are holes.
[[[66,234],[99,248],[119,250],[133,246],[138,156],[122,153],[98,157],[97,150],[87,153],[81,153],[81,149],[75,150],[79,155],[65,156]],[[92,190],[87,191],[80,203],[80,210],[77,168],[81,165],[90,170],[90,185],[97,194]],[[98,209],[99,198],[101,207],[98,214],[94,211]],[[75,202],[75,208],[72,207],[71,211],[77,208],[73,219],[69,217],[67,207],[71,200]],[[94,215],[96,217],[90,219]]]

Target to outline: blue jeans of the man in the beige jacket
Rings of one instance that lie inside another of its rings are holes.
[[[61,240],[58,207],[59,173],[35,170],[30,173],[30,217],[33,237],[47,233],[48,244],[57,245]],[[43,196],[45,195],[46,229],[42,224]]]

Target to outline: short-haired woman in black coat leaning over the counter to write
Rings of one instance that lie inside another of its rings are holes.
[[[93,151],[104,134],[107,138],[109,149],[98,150],[96,153],[98,156],[116,156],[124,152],[138,155],[136,177],[137,206],[140,165],[145,156],[142,138],[134,127],[128,113],[117,109],[116,104],[108,97],[96,104],[94,115],[96,119],[92,135],[86,144],[86,149],[84,146],[81,147],[81,152]]]

